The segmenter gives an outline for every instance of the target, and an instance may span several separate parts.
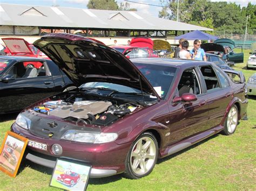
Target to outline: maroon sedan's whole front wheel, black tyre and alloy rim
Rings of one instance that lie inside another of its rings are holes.
[[[131,145],[125,160],[124,175],[139,179],[150,174],[158,158],[158,143],[151,132],[144,132]]]

